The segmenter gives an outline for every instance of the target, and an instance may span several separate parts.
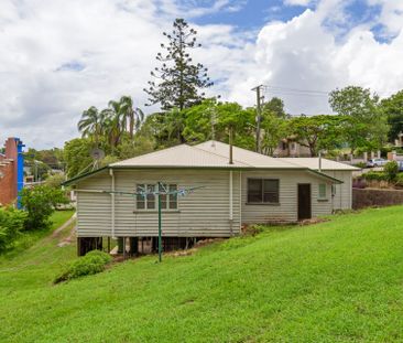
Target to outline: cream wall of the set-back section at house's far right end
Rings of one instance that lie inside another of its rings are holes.
[[[352,206],[352,172],[345,170],[324,171],[325,174],[342,181],[336,184],[336,194],[333,199],[334,210],[350,210]]]

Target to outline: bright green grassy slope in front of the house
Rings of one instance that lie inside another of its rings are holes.
[[[59,286],[75,247],[45,238],[0,262],[0,341],[403,341],[402,218],[369,210]]]

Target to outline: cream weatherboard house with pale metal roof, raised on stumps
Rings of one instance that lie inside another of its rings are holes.
[[[159,216],[153,191],[162,184],[172,193],[161,200],[166,248],[173,242],[238,235],[244,224],[292,223],[351,208],[355,169],[326,159],[271,158],[207,141],[112,163],[65,184],[77,193],[79,245],[100,237],[130,237],[134,249],[144,239],[155,247]],[[189,189],[194,192],[181,196],[181,190]],[[142,190],[149,193],[140,195]]]

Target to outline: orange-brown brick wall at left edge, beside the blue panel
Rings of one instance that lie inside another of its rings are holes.
[[[0,159],[0,205],[8,205],[17,197],[18,142],[14,138],[6,141],[6,153]]]

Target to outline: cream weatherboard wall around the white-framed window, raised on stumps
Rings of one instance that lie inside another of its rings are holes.
[[[115,170],[116,191],[133,192],[137,184],[175,183],[178,189],[203,186],[178,197],[177,210],[162,213],[164,236],[228,237],[240,232],[240,173],[232,172],[230,224],[229,171],[226,170]],[[78,183],[78,190],[111,190],[112,178],[104,172]],[[78,236],[112,236],[112,200],[109,193],[77,192]],[[137,210],[135,197],[115,195],[115,236],[156,236],[157,211]]]

